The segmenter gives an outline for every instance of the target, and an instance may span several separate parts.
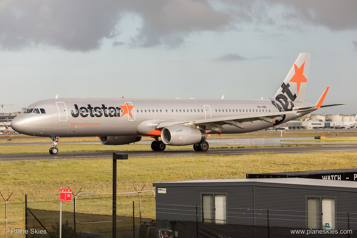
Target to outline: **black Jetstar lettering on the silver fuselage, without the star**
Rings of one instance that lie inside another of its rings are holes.
[[[120,112],[123,110],[121,107],[106,107],[102,104],[101,107],[92,107],[90,104],[87,104],[87,107],[80,107],[78,109],[78,105],[74,104],[75,111],[71,111],[72,117],[120,117]],[[107,111],[108,110],[108,111]]]

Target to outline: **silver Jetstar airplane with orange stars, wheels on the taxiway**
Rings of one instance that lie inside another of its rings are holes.
[[[321,107],[304,102],[311,53],[298,55],[276,93],[268,99],[53,98],[32,103],[11,127],[22,134],[50,137],[57,154],[60,137],[96,136],[104,145],[155,138],[154,151],[166,145],[193,145],[207,151],[207,134],[246,133],[304,116]],[[57,97],[57,96],[56,96]],[[161,137],[161,140],[159,140]]]

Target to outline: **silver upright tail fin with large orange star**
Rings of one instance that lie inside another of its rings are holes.
[[[278,91],[270,99],[286,98],[290,101],[304,101],[310,56],[311,53],[300,53],[297,56]]]

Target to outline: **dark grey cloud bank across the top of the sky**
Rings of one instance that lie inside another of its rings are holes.
[[[356,29],[355,9],[355,0],[9,0],[0,2],[0,47],[95,50],[104,39],[115,41],[125,14],[142,20],[131,47],[178,47],[192,32],[236,30],[245,22]]]

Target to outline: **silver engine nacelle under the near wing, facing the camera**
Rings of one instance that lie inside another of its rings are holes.
[[[161,131],[161,140],[169,146],[186,146],[205,141],[207,134],[191,127],[168,126]]]

